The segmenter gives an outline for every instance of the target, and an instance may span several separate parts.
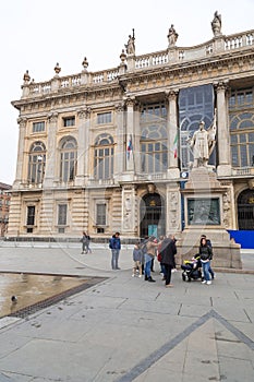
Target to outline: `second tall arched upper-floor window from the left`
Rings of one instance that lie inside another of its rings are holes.
[[[60,180],[68,182],[75,178],[76,172],[76,140],[65,138],[60,145]]]

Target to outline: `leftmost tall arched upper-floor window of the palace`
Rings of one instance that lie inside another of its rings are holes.
[[[28,183],[43,183],[46,164],[46,147],[43,142],[35,142],[29,150]]]

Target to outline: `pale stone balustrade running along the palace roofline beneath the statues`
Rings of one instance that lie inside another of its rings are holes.
[[[121,73],[128,71],[138,71],[144,69],[150,69],[156,67],[164,67],[168,64],[178,64],[188,62],[191,60],[202,60],[207,57],[216,57],[216,53],[228,52],[230,50],[241,50],[243,48],[253,49],[254,46],[254,31],[247,31],[240,34],[230,36],[215,37],[209,41],[194,46],[194,47],[172,47],[167,50],[128,57],[126,69],[121,67],[98,71],[87,72],[83,71],[80,74],[69,75],[60,77],[56,75],[51,81],[34,83],[28,80],[23,84],[23,98],[29,96],[40,96],[49,94],[51,92],[58,92],[59,89],[72,89],[77,86],[89,85],[97,86],[100,84],[107,84],[110,82],[117,82]]]

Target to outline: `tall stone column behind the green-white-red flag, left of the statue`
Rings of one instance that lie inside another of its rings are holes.
[[[178,91],[170,91],[167,94],[168,99],[168,175],[170,178],[179,178],[178,156],[179,156],[179,129],[177,99]],[[177,139],[177,142],[176,142]],[[174,143],[176,142],[176,143]],[[177,148],[177,157],[174,157],[174,148]]]

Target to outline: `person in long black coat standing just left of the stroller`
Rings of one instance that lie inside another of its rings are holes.
[[[161,263],[165,267],[166,282],[165,285],[167,288],[172,287],[171,282],[171,272],[176,266],[174,254],[177,253],[176,239],[173,235],[169,235],[161,243]]]

